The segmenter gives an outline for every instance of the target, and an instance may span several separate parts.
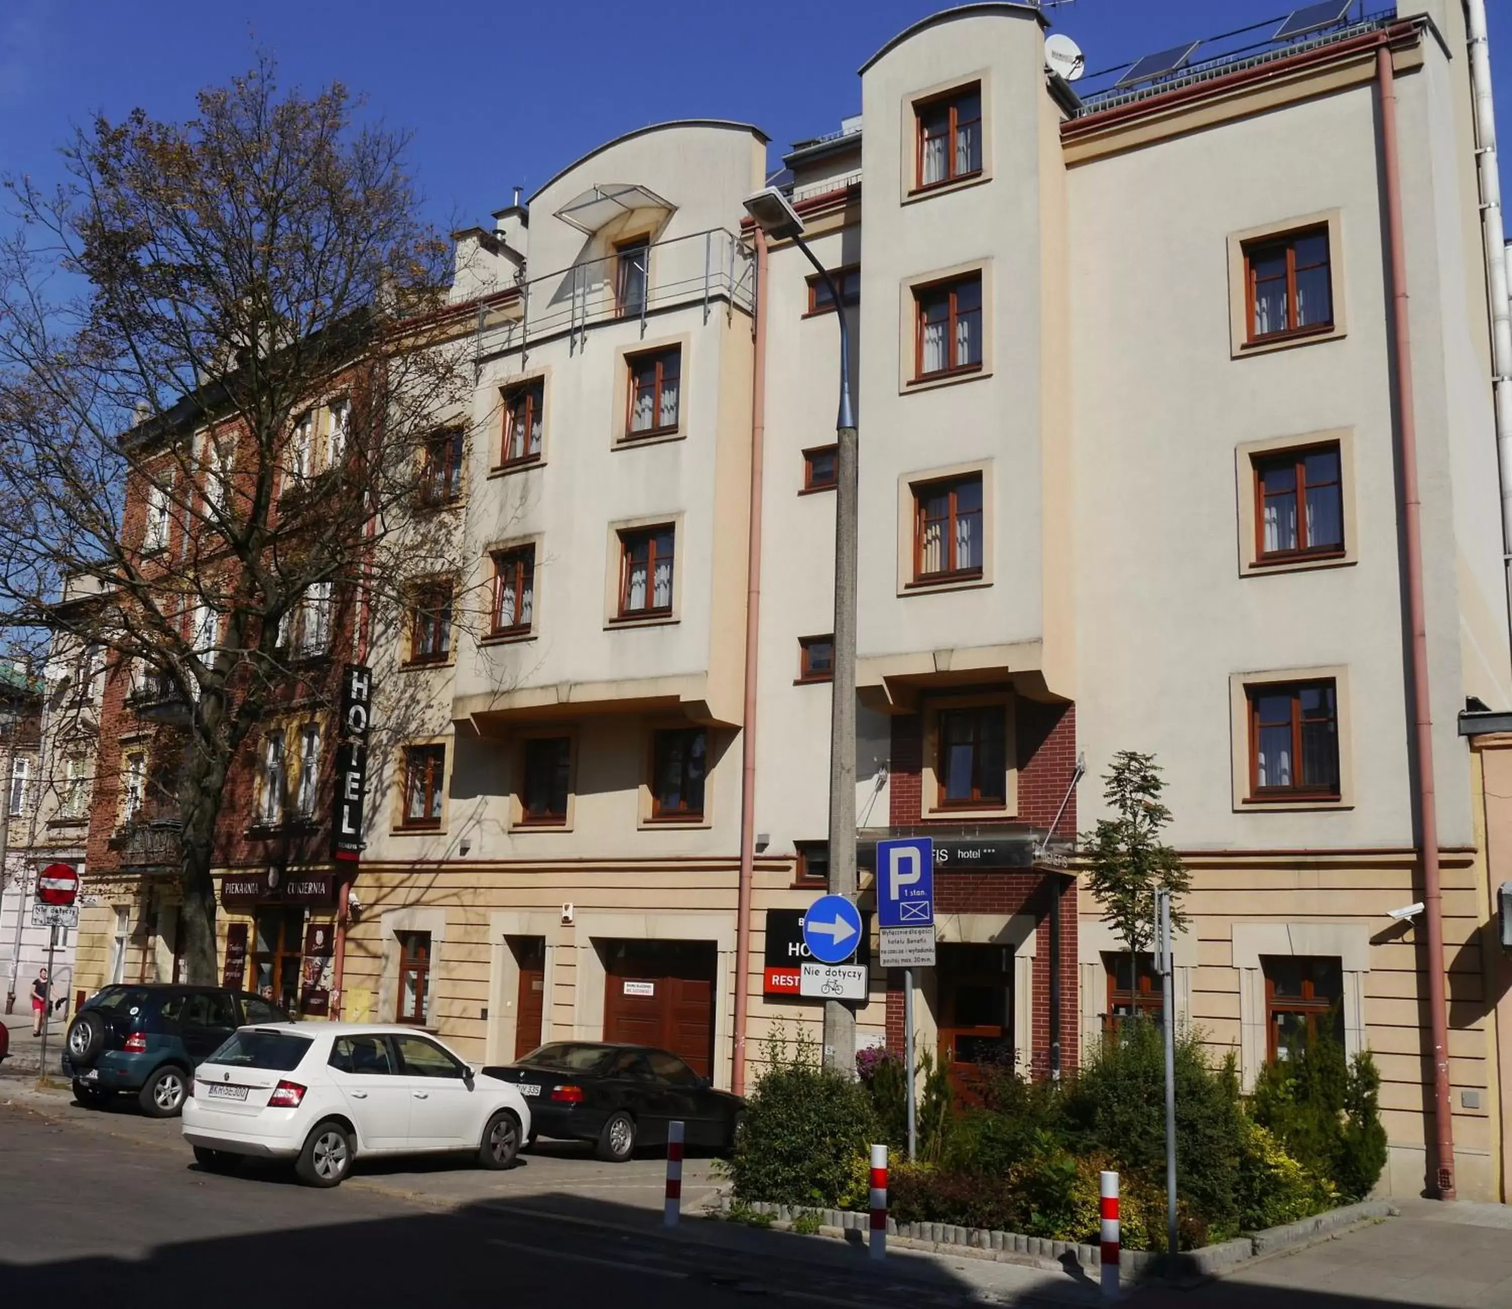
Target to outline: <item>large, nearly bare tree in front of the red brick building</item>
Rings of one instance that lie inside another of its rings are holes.
[[[458,515],[426,508],[457,476],[470,354],[405,148],[340,85],[284,92],[263,60],[183,124],[97,118],[56,189],[6,180],[0,606],[15,639],[98,645],[136,703],[177,707],[153,777],[194,983],[215,979],[237,751],[330,691],[322,642],[351,658],[460,571]],[[107,603],[59,606],[65,577]],[[104,754],[97,824],[139,786]]]

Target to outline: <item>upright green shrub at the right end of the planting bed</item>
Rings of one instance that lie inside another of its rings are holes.
[[[1364,1051],[1346,1063],[1328,1032],[1261,1070],[1250,1116],[1303,1168],[1329,1179],[1344,1202],[1368,1196],[1387,1165],[1376,1061]]]

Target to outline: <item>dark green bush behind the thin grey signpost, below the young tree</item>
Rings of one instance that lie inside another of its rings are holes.
[[[1222,1241],[1240,1224],[1235,1182],[1244,1125],[1238,1073],[1232,1055],[1214,1069],[1196,1035],[1181,1032],[1175,1078],[1182,1242]],[[1064,1137],[1075,1153],[1101,1155],[1129,1182],[1164,1190],[1166,1054],[1157,1023],[1126,1019],[1117,1037],[1092,1051],[1064,1096]],[[1155,1235],[1164,1229],[1161,1221]]]

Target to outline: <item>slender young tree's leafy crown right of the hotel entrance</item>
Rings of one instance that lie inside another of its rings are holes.
[[[1087,887],[1137,960],[1154,945],[1155,892],[1170,892],[1170,928],[1179,931],[1187,925],[1181,896],[1191,889],[1191,878],[1181,856],[1161,839],[1170,810],[1160,800],[1166,781],[1155,756],[1120,750],[1104,783],[1102,798],[1113,818],[1099,819],[1081,836]]]

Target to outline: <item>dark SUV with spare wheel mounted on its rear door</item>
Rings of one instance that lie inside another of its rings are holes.
[[[107,986],[88,999],[64,1037],[64,1075],[86,1108],[118,1091],[144,1114],[171,1119],[184,1105],[194,1070],[246,1023],[286,1023],[278,1005],[248,992],[166,983]]]

